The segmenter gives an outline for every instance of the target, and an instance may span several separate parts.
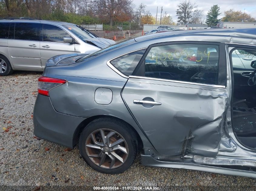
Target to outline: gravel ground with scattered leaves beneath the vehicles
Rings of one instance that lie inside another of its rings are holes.
[[[140,157],[122,174],[107,175],[92,170],[80,157],[78,148],[69,150],[33,135],[33,106],[40,75],[41,72],[18,71],[0,76],[0,190],[3,185],[35,189],[45,185],[137,185],[166,190],[170,188],[165,186],[185,190],[209,190],[202,189],[203,186],[220,186],[217,189],[232,186],[244,190],[245,186],[255,186],[255,179],[247,177],[145,167],[140,164]]]

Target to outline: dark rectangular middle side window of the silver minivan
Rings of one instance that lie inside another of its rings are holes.
[[[15,23],[14,39],[40,40],[40,23]]]

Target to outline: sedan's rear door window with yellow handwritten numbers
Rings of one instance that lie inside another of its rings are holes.
[[[145,58],[145,76],[218,84],[219,47],[207,44],[155,46]],[[160,75],[155,75],[160,72]]]

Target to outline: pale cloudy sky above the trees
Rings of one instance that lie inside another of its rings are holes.
[[[166,11],[168,12],[173,20],[177,21],[176,10],[177,5],[182,2],[181,1],[171,1],[171,0],[134,0],[135,5],[138,7],[140,3],[144,3],[147,5],[146,10],[150,11],[151,14],[155,17],[156,16],[156,9],[158,6],[158,18],[160,18],[161,14],[161,7],[163,6],[163,13]],[[190,1],[196,2],[198,5],[199,10],[203,10],[204,14],[204,21],[206,21],[206,14],[208,10],[210,10],[212,5],[218,4],[220,6],[220,12],[222,13],[219,17],[222,18],[224,16],[224,11],[229,9],[234,9],[236,11],[244,11],[246,13],[251,14],[254,18],[256,18],[256,0],[197,0],[197,1]]]

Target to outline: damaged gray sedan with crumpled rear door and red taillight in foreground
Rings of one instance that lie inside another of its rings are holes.
[[[173,31],[56,56],[38,79],[34,134],[78,144],[102,173],[139,152],[143,165],[256,177],[255,33]]]

